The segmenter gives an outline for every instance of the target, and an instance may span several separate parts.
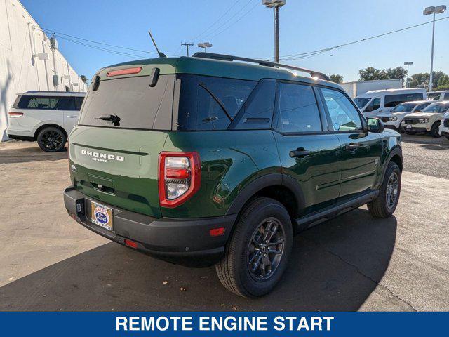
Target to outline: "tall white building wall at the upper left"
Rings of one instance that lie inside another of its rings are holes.
[[[48,53],[48,60],[33,57]],[[53,85],[58,75],[58,86]],[[62,79],[69,75],[70,79]],[[73,84],[78,84],[74,86]],[[8,109],[18,93],[38,91],[86,91],[86,84],[64,56],[50,48],[50,40],[18,0],[0,0],[0,140],[8,139]]]

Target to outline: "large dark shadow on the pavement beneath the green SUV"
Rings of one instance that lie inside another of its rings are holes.
[[[358,310],[384,275],[396,218],[356,209],[302,232],[272,293],[247,299],[215,268],[190,269],[105,244],[0,288],[0,310]]]

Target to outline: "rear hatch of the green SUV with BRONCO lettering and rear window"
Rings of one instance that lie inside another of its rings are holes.
[[[170,59],[154,61],[95,75],[69,136],[69,166],[81,193],[159,218],[158,158],[171,128],[175,75]]]

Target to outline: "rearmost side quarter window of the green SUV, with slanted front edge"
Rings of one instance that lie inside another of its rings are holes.
[[[256,82],[199,77],[196,130],[226,130]]]

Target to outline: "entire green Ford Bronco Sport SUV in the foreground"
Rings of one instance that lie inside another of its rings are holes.
[[[227,289],[257,297],[281,279],[293,235],[363,204],[391,216],[401,136],[324,74],[196,53],[98,71],[69,169],[78,223],[165,260],[216,264]]]

